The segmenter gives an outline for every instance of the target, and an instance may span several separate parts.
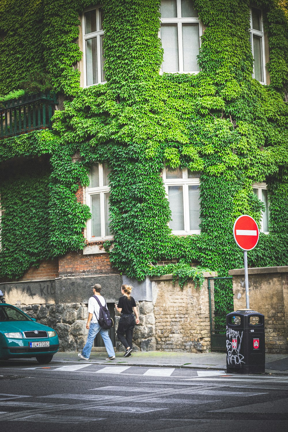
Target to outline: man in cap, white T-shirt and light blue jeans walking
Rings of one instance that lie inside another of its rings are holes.
[[[104,299],[104,297],[102,297],[102,295],[100,295],[101,285],[99,283],[96,283],[95,285],[92,286],[92,288],[93,288],[93,294],[97,295],[99,301],[101,302],[101,305],[105,306],[105,304],[106,304],[105,299]],[[115,352],[113,349],[111,339],[108,335],[108,330],[105,330],[104,328],[100,327],[100,325],[98,323],[99,311],[100,311],[100,306],[99,306],[97,300],[94,297],[90,297],[89,302],[88,302],[89,316],[88,316],[88,320],[87,320],[87,324],[86,324],[86,328],[89,330],[89,333],[88,333],[88,337],[87,337],[87,342],[86,342],[84,348],[82,349],[82,353],[78,354],[80,359],[89,360],[94,339],[96,337],[96,334],[98,334],[99,332],[102,336],[103,342],[105,344],[105,348],[106,348],[107,353],[108,353],[108,357],[106,358],[106,360],[114,360],[115,359]]]

